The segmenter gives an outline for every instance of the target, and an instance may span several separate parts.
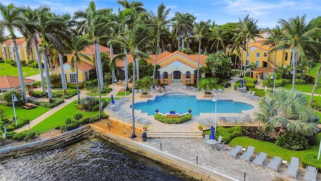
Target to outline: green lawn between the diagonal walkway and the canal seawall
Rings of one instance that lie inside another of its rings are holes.
[[[105,100],[106,98],[102,99],[102,102],[104,102]],[[61,110],[57,111],[56,113],[52,114],[51,116],[37,124],[36,126],[32,127],[31,130],[38,129],[39,133],[44,133],[46,131],[52,130],[55,126],[63,124],[67,117],[72,117],[75,113],[82,113],[83,117],[93,116],[98,113],[98,111],[81,112],[79,109],[76,109],[76,102],[77,100],[71,102]]]

